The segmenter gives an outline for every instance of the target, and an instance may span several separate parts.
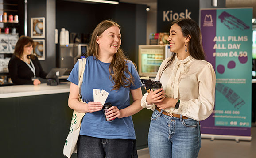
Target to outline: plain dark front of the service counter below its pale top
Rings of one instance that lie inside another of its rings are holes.
[[[65,158],[63,147],[73,110],[69,93],[0,98],[2,158]],[[152,112],[132,116],[137,149],[147,147]],[[71,158],[77,158],[73,154]]]

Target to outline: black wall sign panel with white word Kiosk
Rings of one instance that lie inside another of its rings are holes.
[[[157,32],[169,32],[179,18],[199,21],[199,0],[157,0]]]

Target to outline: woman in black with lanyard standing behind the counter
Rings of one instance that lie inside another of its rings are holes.
[[[28,36],[21,36],[16,43],[14,54],[9,61],[8,68],[13,84],[34,84],[41,82],[39,77],[46,79],[47,73],[43,71],[36,56],[31,54],[34,41]]]

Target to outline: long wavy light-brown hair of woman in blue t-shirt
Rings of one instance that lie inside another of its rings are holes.
[[[96,26],[91,35],[87,56],[94,56],[98,60],[100,49],[96,42],[97,37],[100,37],[105,30],[112,26],[117,26],[121,31],[120,26],[112,20],[104,20]],[[112,90],[118,90],[121,86],[128,88],[134,84],[134,78],[126,65],[127,61],[128,58],[125,57],[124,51],[119,48],[109,65],[109,78],[115,84]],[[128,74],[128,76],[125,76],[124,73]]]

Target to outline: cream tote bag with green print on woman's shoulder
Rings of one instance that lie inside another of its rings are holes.
[[[78,59],[79,62],[79,67],[78,67],[78,72],[79,72],[79,82],[78,82],[78,88],[79,88],[79,96],[78,100],[82,103],[85,103],[82,101],[81,98],[81,86],[83,82],[83,74],[85,71],[85,65],[86,65],[86,58]],[[74,110],[73,115],[72,115],[72,120],[71,120],[71,125],[70,125],[70,131],[67,136],[64,148],[63,148],[63,154],[70,158],[73,153],[77,153],[77,141],[78,141],[78,136],[81,128],[81,122],[82,118],[84,117],[85,113],[78,113],[77,111]]]

